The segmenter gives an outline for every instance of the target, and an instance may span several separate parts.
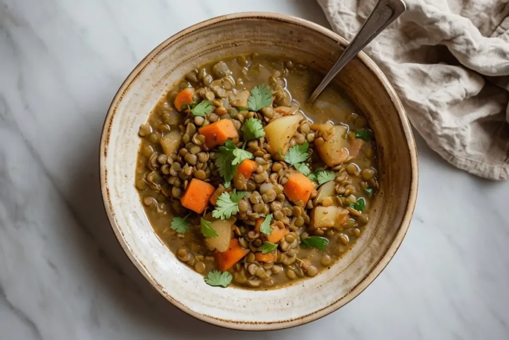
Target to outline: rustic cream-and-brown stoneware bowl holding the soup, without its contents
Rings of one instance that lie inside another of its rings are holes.
[[[113,99],[100,146],[101,189],[109,221],[138,270],[165,299],[193,317],[243,330],[305,324],[362,292],[403,241],[417,194],[414,139],[400,100],[363,53],[336,80],[373,127],[381,187],[362,237],[330,270],[276,290],[211,287],[159,240],[134,188],[138,128],[186,72],[210,60],[256,51],[290,57],[325,74],[346,44],[320,25],[288,15],[222,16],[160,44],[132,71]]]

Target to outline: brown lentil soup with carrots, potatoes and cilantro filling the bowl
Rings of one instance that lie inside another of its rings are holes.
[[[214,286],[278,287],[329,268],[378,190],[375,140],[321,75],[257,54],[189,71],[141,138],[135,186],[159,238]]]

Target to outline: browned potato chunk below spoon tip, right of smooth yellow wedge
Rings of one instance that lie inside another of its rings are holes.
[[[333,125],[331,130],[327,130],[327,134],[324,135],[325,143],[322,145],[315,143],[320,158],[327,166],[333,167],[348,159],[348,150],[345,148],[346,132],[346,126]]]

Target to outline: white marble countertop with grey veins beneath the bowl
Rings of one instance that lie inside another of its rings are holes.
[[[151,289],[99,192],[111,98],[157,44],[220,14],[328,27],[312,0],[0,0],[0,338],[507,339],[509,183],[449,166],[417,138],[419,195],[391,263],[350,304],[274,332],[222,329]]]

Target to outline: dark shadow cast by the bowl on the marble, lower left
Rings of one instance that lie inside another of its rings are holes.
[[[99,96],[98,96],[99,97]],[[105,100],[106,101],[106,100]],[[107,104],[104,111],[107,111]],[[102,113],[94,114],[104,116]],[[71,170],[74,184],[70,190],[69,207],[79,228],[69,240],[80,256],[83,268],[90,269],[93,280],[100,283],[114,310],[124,313],[123,322],[143,324],[155,334],[171,337],[216,338],[236,337],[240,331],[224,329],[194,319],[161,297],[137,271],[113,233],[101,198],[99,186],[99,145],[101,128],[92,130],[83,146],[78,164]],[[83,236],[86,234],[86,237]],[[97,311],[91,310],[91,322],[98,323]]]

